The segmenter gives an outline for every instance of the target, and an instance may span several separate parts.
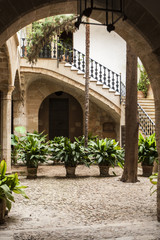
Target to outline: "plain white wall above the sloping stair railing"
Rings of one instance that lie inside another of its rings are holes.
[[[96,22],[90,20],[90,22]],[[81,24],[73,34],[74,48],[85,54],[85,25]],[[126,76],[126,42],[115,32],[109,33],[105,26],[90,25],[90,57],[110,70]]]

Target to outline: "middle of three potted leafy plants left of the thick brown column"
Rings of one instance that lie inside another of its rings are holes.
[[[75,177],[76,167],[80,163],[89,166],[87,150],[76,141],[72,143],[67,137],[55,145],[54,159],[64,163],[66,177]]]

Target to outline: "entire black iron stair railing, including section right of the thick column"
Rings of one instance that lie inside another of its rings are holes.
[[[22,38],[21,56],[27,55],[27,41]],[[65,61],[79,71],[85,73],[85,54],[73,49],[71,46],[64,45],[62,42],[53,41],[51,44],[44,46],[39,54],[40,58],[53,58],[57,61]],[[97,80],[98,83],[107,86],[120,94],[120,102],[125,103],[126,86],[121,81],[121,74],[117,74],[97,61],[90,58],[90,77]],[[138,103],[138,112],[140,128],[145,135],[151,135],[155,132],[155,123],[148,116],[142,106]]]

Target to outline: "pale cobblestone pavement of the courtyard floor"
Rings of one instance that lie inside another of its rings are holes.
[[[148,178],[123,183],[121,173],[102,178],[97,166],[78,166],[67,179],[63,166],[40,166],[36,180],[21,176],[29,200],[15,196],[0,240],[160,240]]]

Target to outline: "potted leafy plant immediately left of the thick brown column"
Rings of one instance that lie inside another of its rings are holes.
[[[115,165],[123,166],[124,156],[121,147],[114,139],[97,139],[90,143],[91,158],[98,164],[100,176],[109,176],[109,168]]]

